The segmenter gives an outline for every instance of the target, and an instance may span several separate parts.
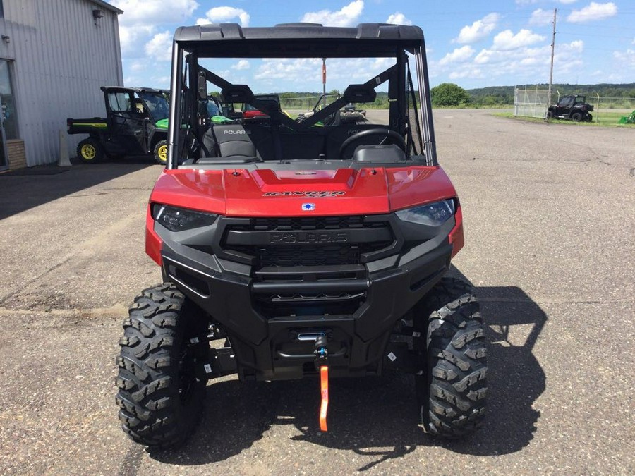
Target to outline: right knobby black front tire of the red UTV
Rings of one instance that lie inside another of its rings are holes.
[[[417,393],[423,429],[462,438],[483,424],[488,372],[483,319],[468,283],[444,278],[418,309],[422,363]]]

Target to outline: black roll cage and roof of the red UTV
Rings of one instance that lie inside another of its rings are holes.
[[[409,55],[414,59],[413,72]],[[279,104],[256,97],[248,85],[231,83],[200,64],[201,60],[207,59],[257,58],[393,58],[394,64],[373,74],[364,83],[348,85],[339,99],[302,121],[296,121],[285,114]],[[236,24],[179,28],[173,44],[170,118],[181,118],[181,121],[169,121],[168,169],[182,164],[191,166],[201,157],[209,157],[205,137],[213,126],[206,113],[208,83],[219,88],[222,102],[250,104],[269,116],[266,124],[258,126],[260,129],[253,137],[266,130],[274,145],[271,154],[262,154],[264,159],[259,153],[258,161],[279,162],[289,159],[284,154],[284,147],[280,146],[281,139],[282,142],[294,140],[322,147],[323,150],[310,156],[314,159],[339,159],[332,152],[337,147],[316,144],[344,142],[347,135],[368,130],[369,125],[347,130],[316,126],[322,126],[322,121],[333,117],[346,104],[374,102],[377,87],[387,83],[389,121],[382,128],[404,138],[406,159],[437,165],[425,44],[423,32],[418,27],[373,23],[357,28],[331,28],[294,23],[271,28],[241,28]],[[179,123],[181,127],[178,127]],[[252,134],[251,130],[235,132]],[[292,135],[296,138],[291,138]],[[318,140],[307,142],[303,138]]]

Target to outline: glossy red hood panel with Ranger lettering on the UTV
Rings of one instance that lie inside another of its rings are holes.
[[[439,167],[166,170],[150,200],[227,216],[381,214],[455,195]]]

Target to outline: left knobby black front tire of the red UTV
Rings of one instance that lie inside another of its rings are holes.
[[[119,420],[137,443],[179,446],[200,420],[205,380],[195,375],[201,329],[183,294],[170,283],[147,288],[130,307],[117,358]]]

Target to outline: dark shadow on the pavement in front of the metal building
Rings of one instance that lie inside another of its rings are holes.
[[[83,164],[73,159],[72,163],[71,167],[35,166],[0,173],[0,219],[153,164],[159,167],[152,157],[126,157],[99,164]]]

